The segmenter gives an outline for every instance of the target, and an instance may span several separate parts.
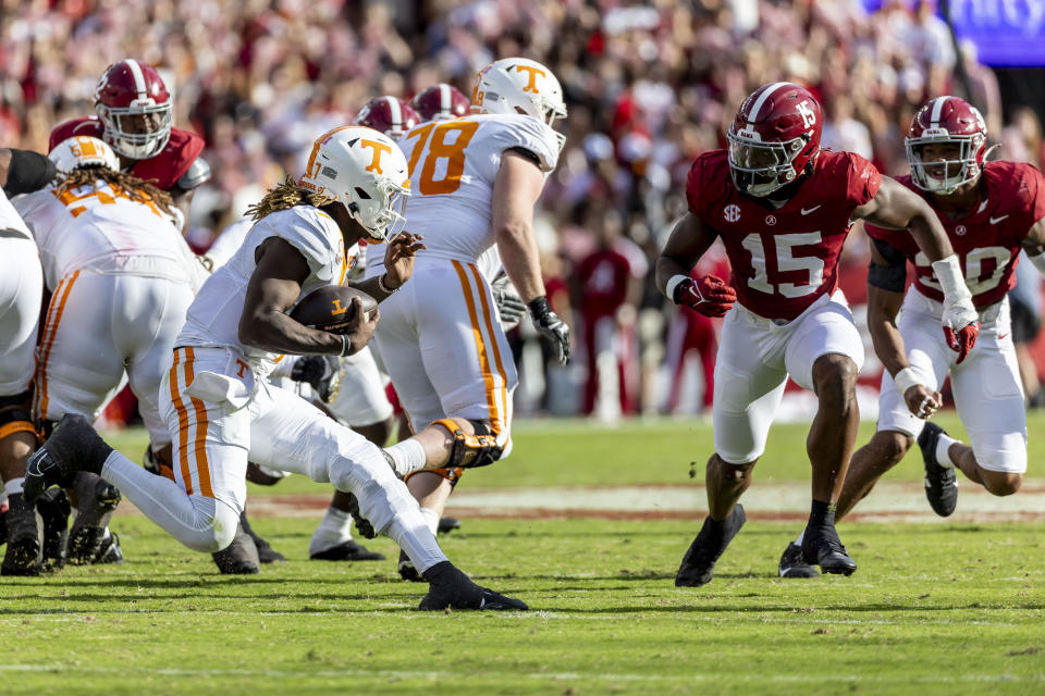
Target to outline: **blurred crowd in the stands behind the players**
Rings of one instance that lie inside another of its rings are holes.
[[[46,149],[58,122],[93,113],[106,66],[134,57],[161,70],[179,127],[207,140],[213,178],[193,202],[205,248],[312,139],[378,95],[437,82],[466,95],[477,67],[527,55],[563,84],[568,136],[542,199],[549,294],[575,327],[576,364],[548,365],[522,326],[519,413],[697,412],[711,396],[715,326],[665,301],[653,261],[685,212],[685,177],[722,147],[745,96],[788,79],[826,114],[824,145],[907,172],[903,135],[927,97],[959,90],[985,113],[1000,156],[1041,166],[1042,124],[1008,123],[997,82],[971,46],[956,49],[934,3],[887,0],[0,0],[0,142]],[[859,229],[845,287],[859,304]],[[727,271],[712,254],[703,272]],[[870,361],[873,362],[873,361]],[[869,365],[873,382],[876,368]]]

